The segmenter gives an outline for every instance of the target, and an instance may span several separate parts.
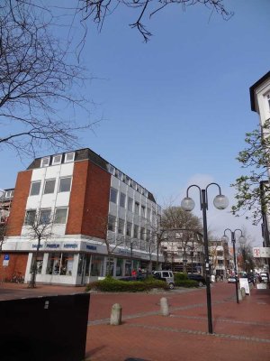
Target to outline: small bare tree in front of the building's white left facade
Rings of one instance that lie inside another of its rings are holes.
[[[31,261],[31,281],[28,284],[29,288],[35,288],[40,242],[52,236],[53,218],[50,214],[50,209],[28,210],[26,212],[25,226],[27,227],[25,235],[29,236],[31,241],[37,241],[36,252],[33,254]]]

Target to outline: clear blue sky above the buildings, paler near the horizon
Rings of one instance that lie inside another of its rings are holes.
[[[61,3],[59,1],[59,3]],[[224,21],[205,6],[167,6],[146,20],[153,33],[143,42],[129,23],[135,12],[119,6],[98,32],[88,23],[81,64],[94,77],[85,81],[94,131],[80,134],[83,147],[151,191],[162,207],[178,206],[191,184],[217,182],[230,206],[230,187],[244,170],[236,160],[245,134],[257,127],[249,88],[270,69],[270,1],[224,0],[234,15]],[[74,38],[82,28],[74,24]],[[62,35],[64,36],[64,35]],[[76,114],[77,121],[84,121]],[[40,156],[48,154],[40,150]],[[13,188],[31,159],[0,153],[0,188]],[[245,217],[217,210],[209,188],[208,226],[216,236],[242,228],[262,245],[261,227]],[[201,217],[199,192],[191,190]]]

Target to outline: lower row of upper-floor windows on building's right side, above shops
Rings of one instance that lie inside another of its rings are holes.
[[[145,227],[139,227],[138,225],[133,225],[131,222],[126,222],[124,219],[109,216],[108,218],[108,230],[116,232],[120,235],[130,236],[137,239],[147,239],[151,238],[151,230],[146,229]]]

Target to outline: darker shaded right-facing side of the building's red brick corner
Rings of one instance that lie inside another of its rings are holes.
[[[107,232],[111,174],[89,163],[82,233],[104,238]]]

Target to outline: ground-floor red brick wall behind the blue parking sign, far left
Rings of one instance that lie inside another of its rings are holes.
[[[9,263],[7,267],[3,267],[4,255],[9,255]],[[0,275],[1,280],[10,280],[14,274],[24,277],[28,254],[14,254],[11,252],[3,252],[0,256]]]

